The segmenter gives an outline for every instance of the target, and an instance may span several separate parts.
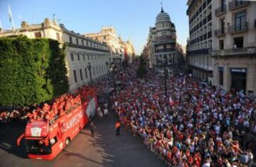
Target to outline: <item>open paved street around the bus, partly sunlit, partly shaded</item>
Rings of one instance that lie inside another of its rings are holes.
[[[116,137],[114,121],[114,116],[103,122],[95,120],[95,137],[86,127],[53,161],[26,158],[24,142],[21,147],[15,144],[23,128],[9,127],[10,132],[1,129],[0,166],[165,166],[124,128]]]

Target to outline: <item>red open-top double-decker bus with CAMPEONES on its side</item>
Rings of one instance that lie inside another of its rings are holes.
[[[17,139],[25,139],[28,158],[50,160],[57,156],[70,141],[87,125],[95,115],[97,96],[89,94],[90,98],[80,102],[67,113],[54,120],[33,120],[26,125],[26,130]]]

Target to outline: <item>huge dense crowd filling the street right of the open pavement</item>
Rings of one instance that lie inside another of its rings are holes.
[[[168,79],[148,71],[112,96],[126,129],[169,166],[252,166],[256,142],[255,101],[242,91],[223,91],[190,76]]]

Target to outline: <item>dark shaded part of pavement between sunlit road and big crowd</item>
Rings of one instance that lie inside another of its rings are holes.
[[[91,137],[90,132],[89,134],[80,132],[90,136],[88,142],[97,149],[97,154],[101,155],[102,166],[165,166],[124,127],[121,128],[121,135],[116,136],[114,130],[116,120],[117,118],[112,114],[109,119],[95,120],[97,128],[94,137]]]

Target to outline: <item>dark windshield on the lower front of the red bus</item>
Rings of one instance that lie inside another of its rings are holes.
[[[46,155],[51,153],[50,144],[46,146],[40,139],[26,139],[28,154]]]

